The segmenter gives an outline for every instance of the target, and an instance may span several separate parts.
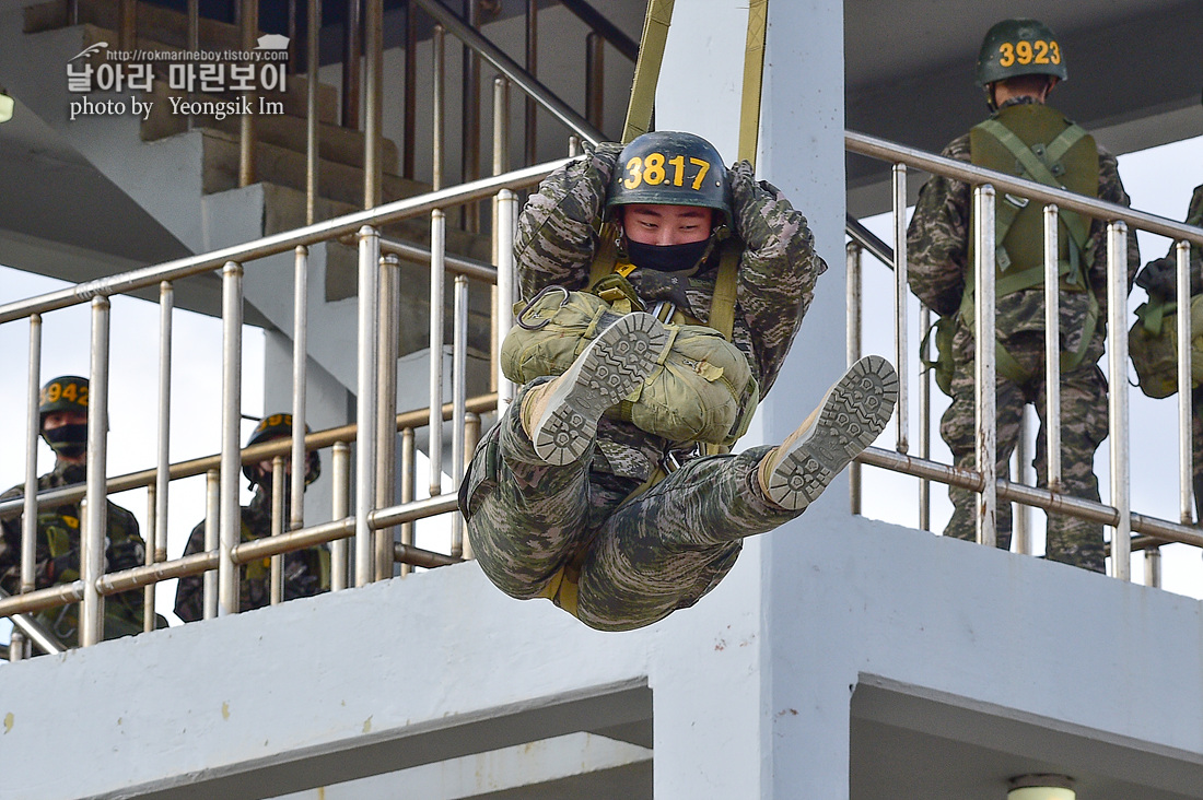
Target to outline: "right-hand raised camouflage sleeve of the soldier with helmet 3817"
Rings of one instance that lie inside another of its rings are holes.
[[[753,174],[752,165],[740,161],[729,178],[735,232],[745,247],[739,313],[752,333],[763,396],[781,371],[826,263],[814,251],[806,218],[776,186],[758,183]]]

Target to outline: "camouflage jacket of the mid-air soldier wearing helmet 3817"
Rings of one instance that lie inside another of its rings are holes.
[[[621,150],[615,143],[589,149],[586,158],[549,176],[527,201],[514,244],[523,298],[551,285],[588,288],[597,227]],[[826,263],[814,251],[806,218],[775,186],[758,183],[748,162],[736,164],[728,177],[735,235],[743,244],[731,338],[752,365],[764,396],[781,371]],[[641,300],[685,300],[688,307],[678,303],[682,310],[705,324],[717,274],[718,257],[712,256],[688,278],[635,269],[628,279]],[[644,480],[668,448],[664,439],[603,417],[592,468]]]

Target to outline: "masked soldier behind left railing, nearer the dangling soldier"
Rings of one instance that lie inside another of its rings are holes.
[[[271,414],[260,420],[247,440],[247,446],[273,439],[291,438],[292,415]],[[292,481],[291,464],[285,458],[284,514],[289,512]],[[242,473],[255,490],[250,505],[242,506],[242,541],[253,541],[272,534],[272,461],[247,464]],[[321,460],[316,452],[306,457],[304,484],[308,486],[321,474]],[[184,555],[205,552],[205,523],[192,528]],[[284,599],[313,597],[330,589],[330,551],[324,546],[284,553]],[[261,609],[272,602],[272,559],[262,558],[239,568],[241,576],[238,610]],[[196,622],[205,616],[205,579],[189,575],[179,579],[176,588],[176,615],[184,622]]]

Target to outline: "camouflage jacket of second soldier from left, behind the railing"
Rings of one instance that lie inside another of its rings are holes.
[[[242,541],[272,535],[272,499],[262,488],[255,490],[250,505],[242,506]],[[312,597],[330,588],[330,564],[324,547],[309,547],[284,555],[284,599]],[[205,522],[192,528],[184,555],[205,552]],[[243,564],[239,576],[238,610],[261,609],[272,602],[272,559]],[[179,579],[176,588],[176,615],[184,622],[205,617],[205,576]]]

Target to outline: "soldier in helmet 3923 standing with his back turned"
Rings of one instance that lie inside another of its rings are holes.
[[[1035,19],[1007,19],[986,32],[977,83],[994,112],[944,148],[946,158],[1018,174],[1112,203],[1130,203],[1115,158],[1081,128],[1045,105],[1067,72],[1060,42]],[[970,185],[932,177],[919,192],[907,232],[911,289],[953,327],[953,402],[940,433],[958,467],[976,466],[973,251]],[[997,443],[1000,475],[1007,475],[1025,403],[1041,417],[1037,480],[1047,485],[1044,402],[1044,261],[1039,203],[1001,194],[995,212],[997,263]],[[1097,366],[1107,319],[1106,224],[1061,211],[1060,332],[1062,490],[1098,499],[1095,450],[1107,437],[1107,380]],[[1139,266],[1136,236],[1128,237],[1128,288]],[[946,327],[947,330],[947,327]],[[947,346],[947,344],[946,344]],[[937,381],[938,383],[938,381]],[[944,387],[942,386],[942,389]],[[976,539],[976,497],[949,487],[955,510],[944,535]],[[998,547],[1011,547],[1011,506],[1000,504]],[[1048,558],[1103,571],[1102,525],[1049,515]]]

